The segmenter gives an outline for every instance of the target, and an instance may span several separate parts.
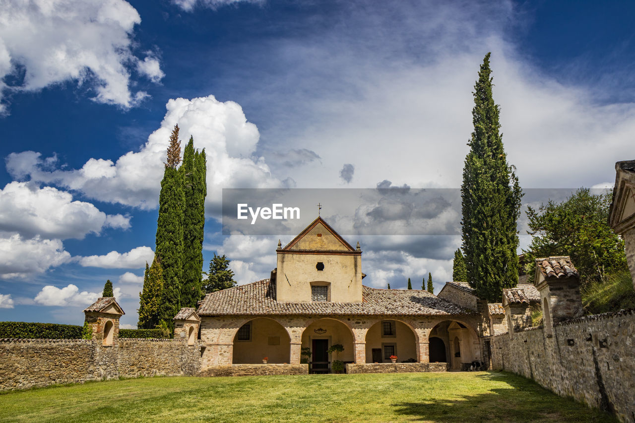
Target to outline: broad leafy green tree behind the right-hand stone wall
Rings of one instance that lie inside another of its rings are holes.
[[[570,255],[583,285],[604,283],[610,274],[627,268],[624,241],[608,225],[612,196],[578,189],[561,203],[549,200],[538,210],[527,207],[531,244],[525,257],[527,271],[535,258]]]

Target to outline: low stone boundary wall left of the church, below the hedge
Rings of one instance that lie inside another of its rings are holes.
[[[113,346],[84,339],[0,339],[0,391],[154,375],[195,375],[197,343],[122,338]]]

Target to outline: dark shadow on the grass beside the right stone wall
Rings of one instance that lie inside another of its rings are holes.
[[[612,415],[582,403],[561,398],[532,380],[506,372],[478,375],[483,380],[507,386],[487,393],[456,394],[430,398],[422,390],[422,401],[395,403],[395,413],[426,422],[617,422]],[[467,388],[469,389],[469,388]],[[433,394],[433,393],[429,393]],[[428,396],[429,399],[426,397]]]

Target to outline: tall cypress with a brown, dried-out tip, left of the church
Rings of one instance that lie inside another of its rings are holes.
[[[168,161],[165,163],[161,194],[159,194],[159,218],[157,219],[155,255],[163,267],[163,302],[159,318],[170,327],[180,309],[180,284],[183,278],[183,214],[185,195],[181,173],[177,166],[181,161],[181,143],[178,125],[170,136]]]

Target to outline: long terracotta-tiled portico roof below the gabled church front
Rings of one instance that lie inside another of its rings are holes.
[[[267,314],[451,316],[474,312],[423,290],[383,290],[362,286],[362,302],[277,302],[276,284],[269,279],[208,293],[199,316]]]

